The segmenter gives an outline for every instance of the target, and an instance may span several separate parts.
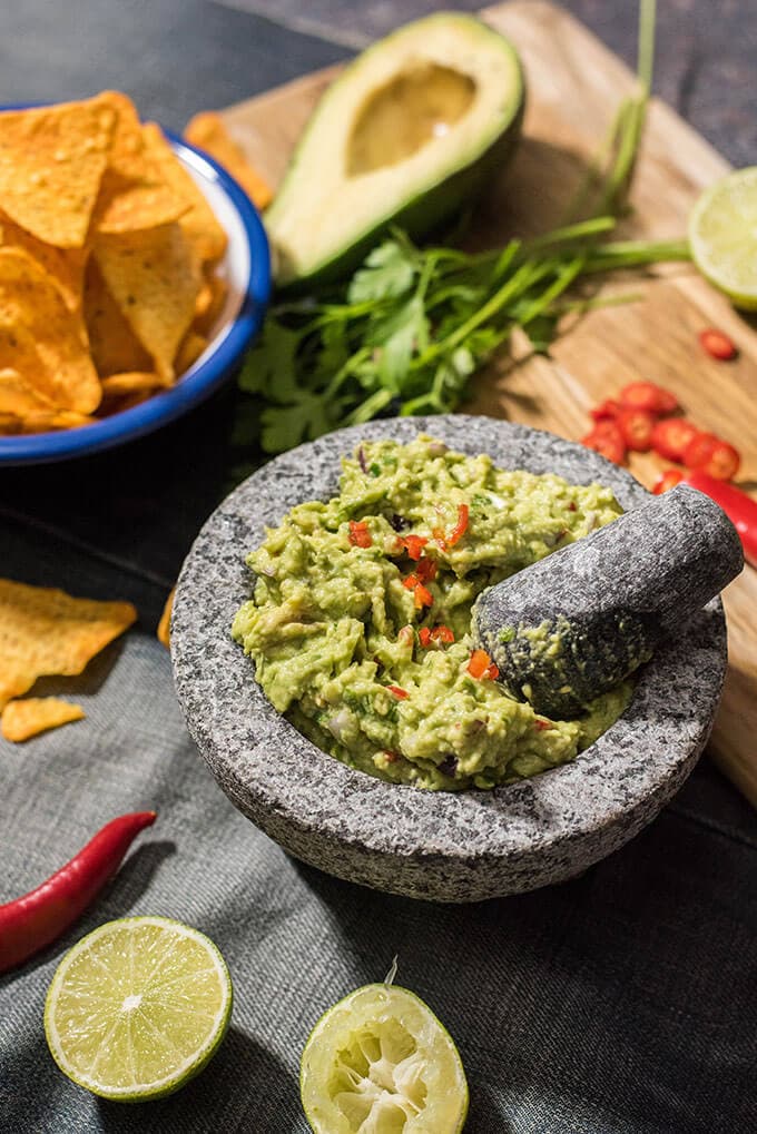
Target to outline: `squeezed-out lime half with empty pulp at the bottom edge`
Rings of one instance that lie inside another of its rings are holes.
[[[465,1072],[452,1036],[406,989],[367,984],[321,1016],[300,1090],[316,1134],[457,1134]]]

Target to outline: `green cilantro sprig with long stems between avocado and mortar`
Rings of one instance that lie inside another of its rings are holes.
[[[626,208],[651,81],[654,9],[642,0],[640,94],[621,103],[564,226],[478,254],[420,248],[394,230],[340,288],[269,311],[239,376],[242,390],[262,401],[263,450],[379,415],[454,411],[516,328],[535,350],[548,347],[566,310],[561,297],[577,281],[689,257],[684,242],[602,239]]]

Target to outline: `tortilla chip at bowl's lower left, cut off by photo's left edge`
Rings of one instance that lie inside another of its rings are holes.
[[[22,248],[0,248],[0,365],[61,409],[89,414],[100,401],[83,318]]]

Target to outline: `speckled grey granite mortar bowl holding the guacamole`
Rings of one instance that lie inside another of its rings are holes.
[[[384,782],[326,755],[269,704],[230,636],[251,594],[244,557],[295,503],[336,491],[361,439],[429,432],[504,467],[600,481],[625,508],[648,500],[629,473],[578,445],[463,415],[340,430],[270,462],[211,516],[182,570],[171,652],[187,726],[220,786],[281,846],[364,886],[441,902],[516,894],[571,878],[650,822],[705,746],[725,672],[710,602],[640,672],[623,717],[573,763],[494,792]]]

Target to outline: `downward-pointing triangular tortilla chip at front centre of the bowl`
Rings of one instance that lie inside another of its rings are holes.
[[[100,236],[94,257],[158,374],[173,382],[174,358],[194,318],[201,287],[197,263],[180,225]]]

